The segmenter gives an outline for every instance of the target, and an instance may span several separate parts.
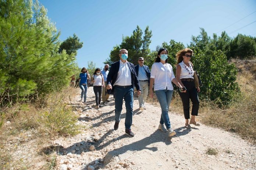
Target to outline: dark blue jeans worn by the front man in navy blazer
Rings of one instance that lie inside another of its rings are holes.
[[[125,101],[126,115],[125,115],[125,129],[131,129],[132,125],[132,107],[133,107],[133,94],[134,89],[132,86],[127,88],[121,88],[115,86],[115,122],[120,122],[120,116],[122,111],[122,101]]]

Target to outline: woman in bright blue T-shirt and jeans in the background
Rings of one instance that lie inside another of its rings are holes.
[[[82,90],[80,101],[83,101],[83,104],[86,104],[87,77],[88,77],[88,71],[85,69],[85,67],[83,67],[81,70],[81,73],[79,74],[79,78],[80,78],[79,87]]]

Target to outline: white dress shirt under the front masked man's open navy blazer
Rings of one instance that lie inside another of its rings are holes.
[[[117,73],[117,80],[115,81],[115,85],[118,86],[129,86],[132,85],[132,76],[131,71],[128,66],[128,62],[123,63],[121,60],[119,61],[119,70]]]

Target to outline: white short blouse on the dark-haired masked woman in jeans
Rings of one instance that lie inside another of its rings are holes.
[[[154,78],[154,90],[173,90],[171,81],[175,78],[171,64],[154,63],[150,78]]]

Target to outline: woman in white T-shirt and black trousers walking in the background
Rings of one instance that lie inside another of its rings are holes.
[[[103,75],[100,74],[100,69],[97,68],[92,76],[93,80],[93,91],[95,93],[95,101],[96,101],[96,107],[99,108],[100,106],[100,100],[102,96],[102,87],[105,87],[104,85],[104,78]]]

